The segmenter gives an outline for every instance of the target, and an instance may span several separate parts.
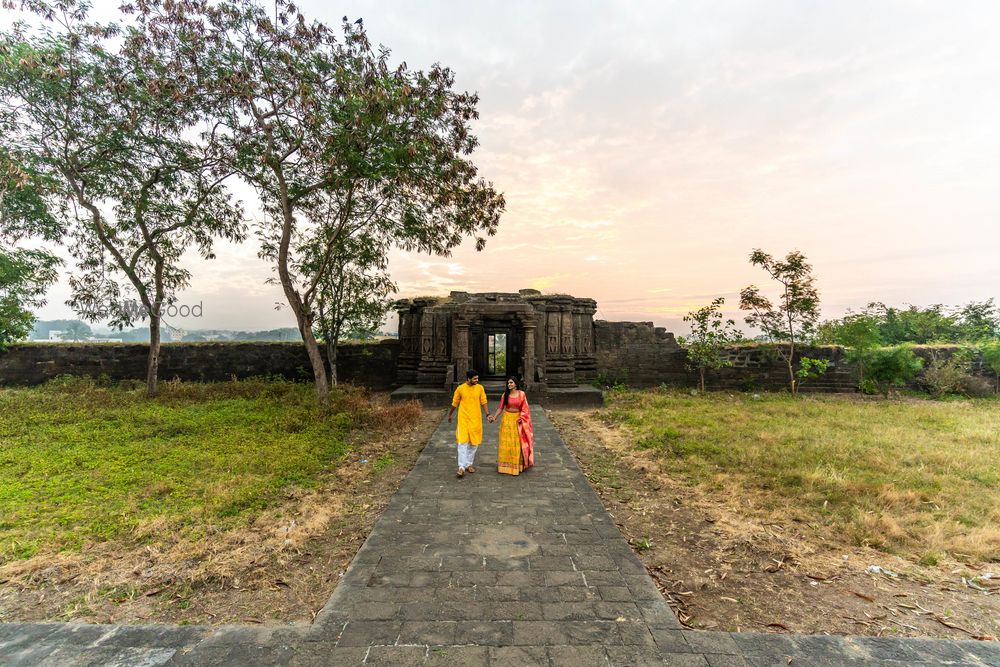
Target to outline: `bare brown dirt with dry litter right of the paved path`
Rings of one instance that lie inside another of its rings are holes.
[[[652,452],[632,448],[625,431],[605,426],[595,413],[549,416],[689,627],[953,639],[1000,635],[1000,580],[975,590],[963,583],[967,565],[925,567],[845,546],[804,522],[761,523],[754,519],[753,498],[712,495],[670,478]],[[897,576],[872,574],[872,565]],[[988,569],[998,572],[1000,566]]]

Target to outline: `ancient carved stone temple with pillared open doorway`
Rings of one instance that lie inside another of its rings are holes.
[[[398,301],[396,397],[450,397],[470,368],[487,386],[515,376],[536,395],[589,395],[596,308],[593,299],[529,289]]]

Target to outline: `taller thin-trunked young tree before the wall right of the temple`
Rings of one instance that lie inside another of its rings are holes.
[[[740,308],[752,311],[746,317],[747,324],[759,328],[770,342],[778,345],[788,367],[789,388],[796,394],[799,383],[794,367],[795,348],[813,333],[819,319],[819,292],[813,285],[812,266],[797,250],[788,253],[784,261],[776,261],[756,249],[750,254],[750,263],[764,269],[781,286],[781,295],[774,305],[759,288],[750,285],[740,292]]]

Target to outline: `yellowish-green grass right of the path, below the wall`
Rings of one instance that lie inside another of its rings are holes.
[[[936,563],[1000,560],[1000,401],[787,394],[607,396],[665,471],[735,507]]]

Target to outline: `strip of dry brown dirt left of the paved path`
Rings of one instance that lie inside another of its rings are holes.
[[[157,534],[155,547],[108,543],[11,564],[0,574],[0,622],[311,622],[441,414],[355,435],[350,459],[319,488],[290,491],[239,530],[207,526],[197,542]]]

